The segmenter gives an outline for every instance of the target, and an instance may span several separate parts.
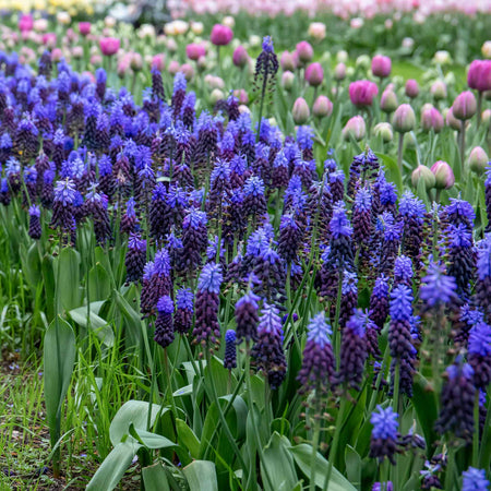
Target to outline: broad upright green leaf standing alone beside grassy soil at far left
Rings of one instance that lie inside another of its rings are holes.
[[[60,438],[61,406],[70,385],[75,363],[75,334],[59,315],[45,334],[45,399],[51,445]]]

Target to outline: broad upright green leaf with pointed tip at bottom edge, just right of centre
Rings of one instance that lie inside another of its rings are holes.
[[[298,478],[295,469],[290,442],[276,431],[271,435],[270,443],[263,451],[261,460],[261,474],[263,476],[264,489],[271,491],[289,491],[297,486]],[[265,474],[270,479],[266,478]],[[273,487],[273,488],[271,488]]]

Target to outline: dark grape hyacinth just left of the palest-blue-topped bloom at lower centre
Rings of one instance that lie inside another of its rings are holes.
[[[287,363],[283,350],[282,319],[274,306],[263,304],[258,340],[251,350],[251,357],[258,370],[267,376],[271,388],[277,390],[286,378]]]

